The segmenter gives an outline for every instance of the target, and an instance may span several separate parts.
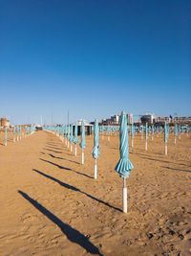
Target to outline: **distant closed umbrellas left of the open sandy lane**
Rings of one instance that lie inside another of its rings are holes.
[[[33,126],[14,126],[13,128],[3,128],[3,145],[8,146],[9,134],[12,133],[12,143],[20,141],[22,138],[32,135],[35,131]]]

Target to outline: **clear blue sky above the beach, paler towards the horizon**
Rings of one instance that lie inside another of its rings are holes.
[[[0,116],[191,115],[190,0],[0,0]]]

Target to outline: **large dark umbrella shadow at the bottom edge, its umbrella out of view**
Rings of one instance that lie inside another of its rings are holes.
[[[53,215],[52,212],[50,212],[47,208],[45,208],[42,204],[37,202],[36,200],[32,199],[30,196],[28,196],[23,191],[18,191],[18,193],[32,203],[33,207],[36,208],[39,212],[44,214],[50,221],[53,221],[55,225],[57,225],[62,233],[67,237],[69,241],[71,241],[74,244],[78,244],[81,247],[83,247],[87,253],[91,254],[97,254],[102,255],[99,251],[99,249],[96,247],[95,244],[92,244],[89,239],[84,236],[82,233],[80,233],[78,230],[74,229],[69,224],[61,221],[58,219],[55,215]]]

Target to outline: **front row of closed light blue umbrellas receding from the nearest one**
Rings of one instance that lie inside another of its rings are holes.
[[[74,132],[73,132],[74,128]],[[62,142],[65,141],[65,145],[67,148],[70,148],[70,144],[76,144],[78,142],[77,138],[77,127],[74,126],[65,126],[62,128],[53,128],[53,127],[45,127],[45,130],[52,132],[53,134],[60,137]],[[100,128],[98,126],[97,119],[95,120],[95,125],[93,128],[94,131],[94,146],[92,149],[92,155],[95,159],[95,166],[94,166],[94,176],[97,179],[97,158],[99,156],[99,131]],[[73,137],[74,134],[74,137]],[[85,126],[84,122],[82,121],[81,124],[81,140],[79,146],[81,148],[81,164],[84,164],[84,150],[85,150]],[[120,115],[120,126],[119,126],[119,151],[120,151],[120,158],[117,162],[117,166],[115,168],[117,174],[123,179],[123,187],[122,187],[122,209],[124,213],[127,213],[127,186],[126,186],[126,179],[130,175],[131,170],[133,169],[133,165],[129,160],[129,151],[128,151],[128,128],[127,128],[127,117],[124,112]],[[75,148],[76,149],[76,148]],[[71,148],[72,150],[72,148]],[[76,155],[76,151],[74,151]]]

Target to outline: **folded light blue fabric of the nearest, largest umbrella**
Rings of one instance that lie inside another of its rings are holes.
[[[124,112],[120,115],[120,129],[119,129],[119,143],[120,143],[120,159],[117,163],[115,170],[120,177],[126,178],[130,175],[131,170],[134,168],[128,158],[128,128],[127,116]]]

